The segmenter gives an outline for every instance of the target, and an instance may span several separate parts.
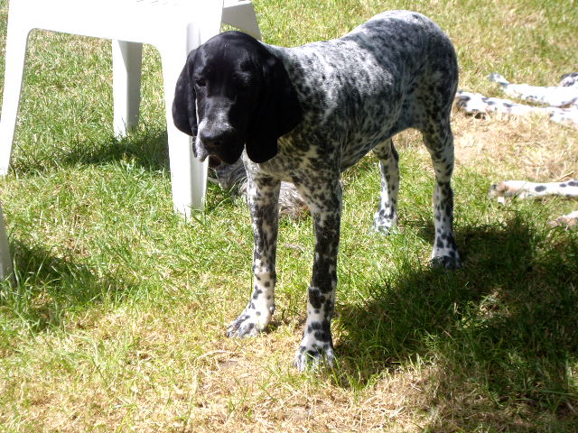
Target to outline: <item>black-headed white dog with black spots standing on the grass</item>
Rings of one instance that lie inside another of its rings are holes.
[[[253,218],[255,285],[228,336],[256,336],[275,309],[281,181],[294,184],[315,231],[307,320],[294,364],[333,359],[331,317],[340,240],[340,172],[373,150],[380,160],[376,229],[396,224],[397,152],[391,137],[420,130],[435,171],[432,261],[461,265],[452,231],[450,112],[458,82],[452,42],[424,15],[378,14],[332,41],[281,48],[224,32],[191,51],[177,82],[176,126],[210,165],[242,154]]]

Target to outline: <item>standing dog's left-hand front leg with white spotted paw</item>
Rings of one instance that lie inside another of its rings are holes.
[[[255,280],[247,308],[230,324],[228,336],[256,336],[266,328],[275,311],[275,250],[281,182],[265,176],[249,176],[247,181],[247,198],[255,235]]]

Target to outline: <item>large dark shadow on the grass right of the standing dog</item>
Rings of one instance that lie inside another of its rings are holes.
[[[457,230],[457,241],[461,270],[407,263],[370,284],[362,303],[340,306],[344,333],[336,350],[344,371],[363,384],[399,364],[435,360],[442,371],[433,378],[430,404],[439,414],[431,431],[471,431],[484,422],[517,430],[520,419],[530,425],[522,430],[532,431],[532,419],[552,422],[544,414],[563,419],[558,427],[578,422],[571,368],[578,358],[578,234],[540,231],[513,217],[501,227]],[[472,417],[498,408],[493,421]]]

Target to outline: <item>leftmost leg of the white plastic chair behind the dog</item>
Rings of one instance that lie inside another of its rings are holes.
[[[29,33],[30,29],[16,27],[10,22],[8,24],[4,98],[2,100],[2,119],[0,120],[0,175],[7,174],[10,167]]]

